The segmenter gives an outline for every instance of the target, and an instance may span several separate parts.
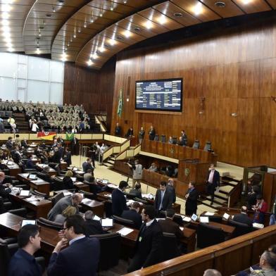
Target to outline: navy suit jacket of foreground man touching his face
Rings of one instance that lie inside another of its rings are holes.
[[[99,239],[87,237],[78,239],[59,253],[51,255],[48,276],[94,276],[99,256]]]

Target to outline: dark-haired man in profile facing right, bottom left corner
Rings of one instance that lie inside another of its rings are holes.
[[[8,276],[41,276],[42,268],[35,261],[34,254],[40,249],[39,227],[25,225],[18,234],[20,249],[11,258]]]

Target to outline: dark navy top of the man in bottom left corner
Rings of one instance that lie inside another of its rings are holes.
[[[24,251],[18,249],[11,258],[8,267],[8,276],[41,276],[42,268],[35,261],[35,257]]]

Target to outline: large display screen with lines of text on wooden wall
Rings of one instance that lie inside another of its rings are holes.
[[[182,79],[139,80],[135,108],[149,111],[182,111]]]

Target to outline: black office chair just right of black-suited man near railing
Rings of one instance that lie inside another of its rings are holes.
[[[175,234],[163,232],[163,261],[168,261],[181,255],[177,246]]]

